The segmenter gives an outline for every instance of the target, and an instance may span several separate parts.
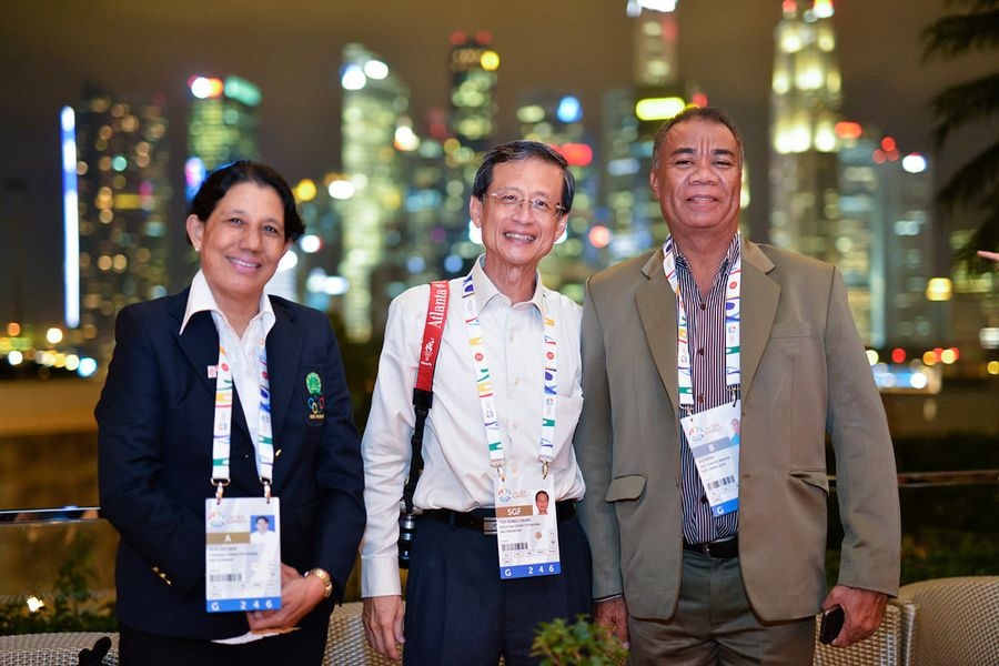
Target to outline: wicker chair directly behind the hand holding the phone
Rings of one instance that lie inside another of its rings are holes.
[[[815,622],[816,666],[908,666],[912,655],[912,627],[916,607],[892,599],[885,609],[881,626],[874,634],[849,647],[833,647],[818,642],[821,615]]]

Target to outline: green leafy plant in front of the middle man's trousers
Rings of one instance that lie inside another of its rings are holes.
[[[544,657],[542,666],[624,664],[628,655],[607,627],[588,622],[585,615],[572,625],[561,617],[541,623],[531,647],[531,656]]]

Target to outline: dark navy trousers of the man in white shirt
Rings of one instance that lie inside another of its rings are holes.
[[[591,612],[589,544],[575,517],[558,524],[562,573],[500,578],[496,537],[422,519],[406,581],[406,666],[537,664],[531,644],[541,622],[571,623]]]

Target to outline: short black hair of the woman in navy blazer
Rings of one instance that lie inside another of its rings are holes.
[[[305,224],[295,208],[295,195],[284,176],[266,164],[249,160],[232,162],[210,173],[188,205],[188,215],[198,215],[199,220],[208,222],[229,189],[240,183],[255,183],[278,192],[284,206],[284,240],[294,241],[305,233]],[[188,242],[191,242],[190,238]]]

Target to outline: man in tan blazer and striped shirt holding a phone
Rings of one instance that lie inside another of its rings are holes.
[[[898,591],[894,452],[842,278],[741,238],[741,162],[723,112],[667,121],[649,182],[670,238],[586,286],[581,514],[594,617],[633,664],[810,664],[819,607],[844,609],[845,646]],[[705,432],[735,454],[695,457]],[[828,594],[827,433],[845,533]],[[717,488],[736,480],[733,511]]]

